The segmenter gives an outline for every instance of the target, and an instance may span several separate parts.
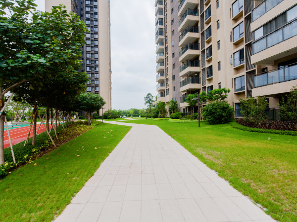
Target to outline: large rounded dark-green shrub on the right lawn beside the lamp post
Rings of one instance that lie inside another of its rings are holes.
[[[216,101],[203,108],[203,116],[210,124],[228,123],[233,118],[233,108],[226,101]]]

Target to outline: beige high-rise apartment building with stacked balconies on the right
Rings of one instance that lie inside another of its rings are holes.
[[[155,0],[157,101],[229,88],[266,96],[269,107],[297,85],[296,0]]]

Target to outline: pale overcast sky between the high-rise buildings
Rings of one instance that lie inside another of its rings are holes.
[[[35,0],[44,10],[45,0]],[[142,109],[156,93],[154,0],[110,0],[112,108]]]

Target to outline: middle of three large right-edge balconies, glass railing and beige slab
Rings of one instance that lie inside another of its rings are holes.
[[[274,65],[274,61],[297,53],[297,19],[252,42],[251,63]]]

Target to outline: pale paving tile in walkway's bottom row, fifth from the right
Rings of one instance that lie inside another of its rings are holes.
[[[159,200],[163,222],[184,222],[177,200]]]

